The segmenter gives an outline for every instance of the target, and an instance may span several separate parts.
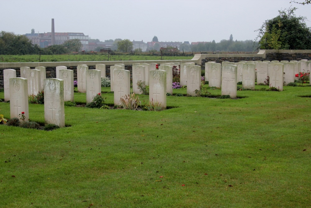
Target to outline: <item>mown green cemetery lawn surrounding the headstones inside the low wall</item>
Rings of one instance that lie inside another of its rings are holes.
[[[0,207],[309,207],[308,85],[168,96],[160,112],[65,107],[70,127],[50,132],[0,125]],[[29,114],[44,123],[43,105]]]

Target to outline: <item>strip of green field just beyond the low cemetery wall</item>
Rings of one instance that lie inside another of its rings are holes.
[[[184,60],[192,59],[193,56],[162,56],[162,60]],[[161,60],[161,56],[139,56],[139,55],[109,55],[109,61],[128,60]],[[40,62],[62,62],[62,61],[108,61],[108,54],[98,55],[41,55]],[[39,55],[0,55],[0,63],[12,62],[39,62]]]

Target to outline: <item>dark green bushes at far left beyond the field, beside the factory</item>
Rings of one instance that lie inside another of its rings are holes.
[[[32,45],[24,35],[15,35],[14,32],[0,32],[0,55],[38,54],[39,46]]]

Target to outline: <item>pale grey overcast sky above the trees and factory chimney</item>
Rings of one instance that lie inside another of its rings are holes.
[[[303,0],[296,0],[302,2]],[[311,21],[311,5],[290,0],[0,0],[0,31],[15,34],[83,32],[93,39],[151,41],[254,40],[278,10],[297,7]],[[311,27],[311,22],[306,21]]]

